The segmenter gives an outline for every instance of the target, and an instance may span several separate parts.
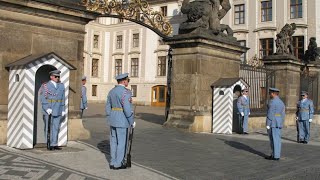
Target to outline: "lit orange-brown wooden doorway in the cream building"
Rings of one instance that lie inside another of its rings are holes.
[[[167,99],[167,86],[159,85],[152,87],[151,106],[165,107]]]

